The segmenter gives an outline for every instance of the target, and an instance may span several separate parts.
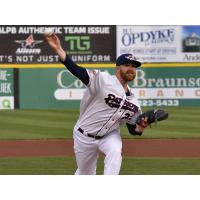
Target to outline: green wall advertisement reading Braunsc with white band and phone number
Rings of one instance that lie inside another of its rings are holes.
[[[105,68],[114,74],[114,68]],[[144,67],[130,83],[141,106],[200,106],[200,67]],[[65,68],[20,69],[20,108],[79,107],[84,84]]]

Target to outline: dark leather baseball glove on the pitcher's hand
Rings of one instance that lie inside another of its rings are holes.
[[[136,124],[146,128],[147,126],[151,126],[152,123],[156,123],[157,121],[166,120],[168,118],[168,113],[161,109],[148,110],[141,115],[138,116],[136,120]]]

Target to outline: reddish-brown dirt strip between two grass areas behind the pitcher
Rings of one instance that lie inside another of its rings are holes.
[[[0,157],[73,156],[69,140],[4,140]],[[124,139],[123,155],[134,157],[200,157],[200,139]]]

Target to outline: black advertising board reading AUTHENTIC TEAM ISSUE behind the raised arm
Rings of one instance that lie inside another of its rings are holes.
[[[48,26],[49,27],[49,26]],[[1,64],[51,64],[59,57],[45,42],[47,26],[0,26]],[[78,63],[111,63],[116,57],[116,26],[50,26]]]

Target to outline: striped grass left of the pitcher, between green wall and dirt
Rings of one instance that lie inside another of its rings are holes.
[[[78,110],[1,111],[0,139],[72,138]]]

